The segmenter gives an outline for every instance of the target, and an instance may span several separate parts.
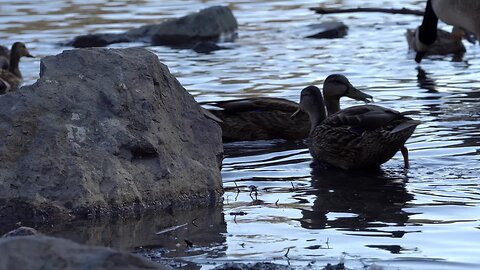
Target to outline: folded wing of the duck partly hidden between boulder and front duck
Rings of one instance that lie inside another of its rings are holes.
[[[298,109],[298,103],[271,97],[245,98],[217,102],[203,102],[200,105],[213,107],[211,111],[222,110],[225,113],[238,113],[247,111],[284,111],[293,113]]]

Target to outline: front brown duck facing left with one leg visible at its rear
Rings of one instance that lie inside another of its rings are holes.
[[[317,164],[343,170],[375,169],[399,150],[409,168],[405,142],[420,124],[398,112],[378,105],[358,105],[327,116],[326,103],[316,86],[301,91],[300,104],[291,117],[308,114],[311,126],[309,151]]]

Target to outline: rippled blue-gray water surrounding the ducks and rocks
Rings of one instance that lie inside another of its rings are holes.
[[[408,170],[397,155],[376,173],[317,172],[310,167],[303,142],[226,144],[223,208],[45,231],[138,251],[153,260],[171,258],[173,265],[190,268],[230,260],[314,267],[345,261],[350,268],[479,268],[479,46],[466,44],[468,52],[460,61],[434,57],[419,66],[407,51],[404,34],[421,18],[320,16],[308,10],[319,2],[328,7],[424,5],[413,0],[3,1],[2,44],[24,41],[38,57],[69,49],[58,44],[75,35],[123,31],[228,3],[240,25],[238,40],[223,44],[230,50],[202,55],[149,47],[198,101],[248,96],[298,100],[304,86],[321,86],[328,74],[343,73],[377,104],[418,110],[414,118],[423,121],[407,143]],[[302,27],[329,20],[346,23],[348,35],[302,38]],[[34,82],[39,58],[23,59],[21,69],[26,83]],[[342,100],[343,106],[353,104]],[[251,186],[257,194],[250,192]],[[185,239],[193,247],[187,247]]]

